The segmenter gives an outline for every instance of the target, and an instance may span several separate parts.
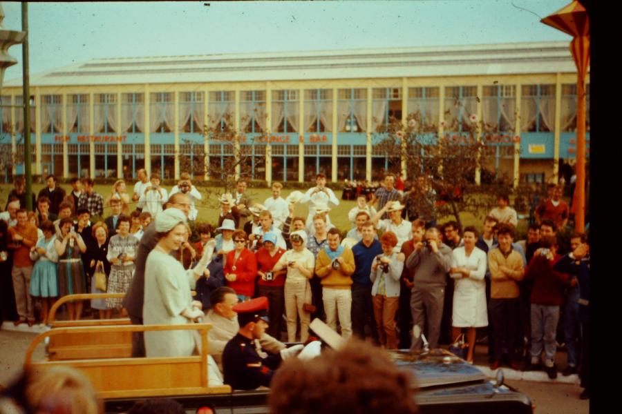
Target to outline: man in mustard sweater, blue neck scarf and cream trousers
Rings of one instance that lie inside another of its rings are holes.
[[[352,336],[352,273],[355,271],[354,255],[348,247],[340,246],[341,235],[337,228],[328,230],[328,245],[317,254],[315,274],[321,278],[322,299],[326,324],[337,331],[339,313],[341,336]]]

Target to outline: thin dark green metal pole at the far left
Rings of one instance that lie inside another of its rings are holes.
[[[32,166],[30,166],[30,79],[28,77],[28,3],[21,3],[21,30],[25,33],[21,46],[22,63],[22,101],[23,101],[23,168],[26,176],[26,209],[31,210],[32,206]]]

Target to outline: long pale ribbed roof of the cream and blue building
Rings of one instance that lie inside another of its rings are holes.
[[[30,86],[520,75],[575,72],[567,41],[93,59]],[[21,78],[4,87],[21,86]]]

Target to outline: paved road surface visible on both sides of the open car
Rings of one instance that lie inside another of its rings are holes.
[[[0,331],[0,384],[6,385],[15,379],[23,366],[23,358],[32,339],[37,335],[35,331],[42,328],[25,324],[19,326],[19,331],[12,331],[12,324],[4,324]],[[493,377],[494,373],[488,368],[486,346],[478,346],[475,351],[475,365],[484,373]],[[44,356],[44,347],[39,346],[34,359]],[[565,353],[559,352],[557,364],[560,369],[565,367]],[[509,368],[502,368],[506,383],[513,388],[529,395],[536,406],[536,414],[586,414],[590,411],[587,400],[579,400],[583,388],[578,386],[578,377],[571,375],[558,380],[549,380],[545,373],[522,373]]]

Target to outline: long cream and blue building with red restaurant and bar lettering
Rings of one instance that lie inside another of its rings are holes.
[[[567,42],[95,59],[31,75],[30,91],[38,175],[209,177],[236,153],[207,133],[224,128],[242,132],[253,179],[371,180],[400,168],[374,148],[379,126],[413,114],[450,137],[475,115],[489,167],[515,183],[556,181],[576,152]],[[21,79],[6,81],[6,177],[23,173],[22,102]]]

